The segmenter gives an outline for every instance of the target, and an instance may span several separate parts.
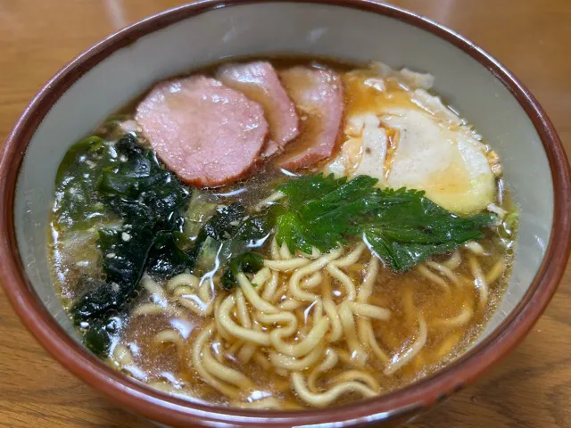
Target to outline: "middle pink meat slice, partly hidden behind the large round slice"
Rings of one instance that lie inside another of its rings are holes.
[[[273,154],[298,134],[298,118],[295,105],[285,92],[276,70],[269,62],[230,63],[222,65],[217,78],[226,86],[243,92],[251,100],[261,103],[269,122],[267,150]],[[271,142],[275,144],[271,144]]]

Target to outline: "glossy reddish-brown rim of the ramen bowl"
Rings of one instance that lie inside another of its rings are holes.
[[[192,19],[203,12],[243,4],[305,3],[342,6],[372,12],[404,21],[429,31],[456,45],[474,58],[509,89],[542,140],[550,164],[553,182],[554,212],[550,242],[533,283],[509,317],[485,338],[443,370],[412,383],[401,390],[340,407],[302,411],[260,411],[234,407],[216,407],[200,402],[178,399],[156,391],[143,383],[106,366],[75,342],[47,312],[29,284],[18,251],[14,229],[14,195],[21,161],[26,147],[46,113],[67,89],[88,70],[121,47],[140,37],[178,21]],[[4,291],[24,325],[37,340],[65,366],[114,402],[140,415],[163,424],[199,424],[214,426],[291,426],[327,423],[364,424],[381,420],[401,419],[430,407],[462,389],[506,357],[521,342],[541,316],[556,291],[571,250],[571,178],[567,155],[550,119],[534,95],[489,53],[458,33],[399,7],[374,0],[200,0],[159,12],[116,32],[81,53],[58,71],[32,99],[16,122],[0,151],[0,260]]]

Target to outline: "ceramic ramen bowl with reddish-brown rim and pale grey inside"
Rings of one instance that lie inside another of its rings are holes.
[[[397,391],[325,409],[217,407],[153,390],[95,358],[54,291],[46,255],[54,177],[72,142],[161,78],[228,57],[383,61],[434,75],[437,93],[499,153],[520,210],[508,290],[476,342],[450,365]],[[2,284],[37,340],[121,407],[173,426],[398,424],[473,382],[540,317],[570,249],[571,182],[550,120],[509,70],[443,26],[365,0],[204,0],[123,29],[70,62],[29,103],[2,148]]]

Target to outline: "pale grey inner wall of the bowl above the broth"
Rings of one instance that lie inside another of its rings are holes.
[[[70,144],[156,80],[228,56],[277,53],[377,60],[432,73],[436,92],[499,152],[521,223],[508,292],[482,340],[521,300],[550,240],[553,186],[542,142],[509,90],[455,45],[403,21],[324,4],[243,4],[204,12],[121,48],[62,95],[29,143],[14,212],[21,258],[46,308],[79,340],[54,293],[46,259],[55,172]]]

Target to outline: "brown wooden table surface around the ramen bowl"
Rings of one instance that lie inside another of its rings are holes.
[[[0,141],[78,53],[181,0],[0,0]],[[481,45],[539,98],[571,151],[571,0],[400,0]],[[571,427],[571,269],[541,321],[476,385],[416,427]],[[150,427],[43,350],[0,291],[0,426]]]

